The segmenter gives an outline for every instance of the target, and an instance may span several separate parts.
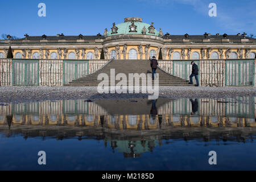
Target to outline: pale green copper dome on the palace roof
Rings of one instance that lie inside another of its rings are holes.
[[[129,19],[131,19],[131,18],[125,18],[125,23],[119,23],[119,24],[115,25],[115,27],[118,28],[117,33],[112,34],[112,29],[110,29],[110,31],[107,32],[106,36],[108,37],[108,36],[112,36],[112,35],[129,35],[129,34],[141,34],[142,35],[143,27],[146,28],[146,32],[144,33],[144,35],[159,36],[159,31],[156,31],[156,29],[154,30],[155,34],[151,34],[148,30],[148,27],[150,27],[151,25],[147,24],[147,23],[140,22],[140,20],[142,20],[142,19],[134,20],[134,25],[137,26],[136,32],[131,31],[130,26],[133,24],[133,22]]]

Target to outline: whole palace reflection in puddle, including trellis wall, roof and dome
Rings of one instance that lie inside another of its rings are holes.
[[[157,108],[155,117],[150,115],[150,109],[148,113],[110,114],[108,108],[96,101],[6,105],[0,106],[0,132],[8,135],[22,133],[27,137],[104,139],[113,151],[123,152],[125,157],[152,152],[162,143],[162,138],[203,137],[207,141],[219,137],[225,140],[237,136],[236,133],[240,137],[256,133],[254,98],[199,99],[198,103],[197,113],[191,115],[189,99],[170,100]],[[7,130],[8,125],[11,130]],[[226,127],[236,132],[218,130]],[[204,130],[207,128],[210,131]],[[215,137],[210,137],[213,135]]]

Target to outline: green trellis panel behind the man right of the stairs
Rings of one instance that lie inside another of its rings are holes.
[[[200,71],[200,62],[195,61]],[[184,80],[189,80],[189,76],[192,72],[191,61],[174,61],[172,65],[172,75],[176,77],[183,78]],[[200,75],[198,75],[198,80],[200,81]],[[195,77],[193,77],[193,83],[196,83]]]

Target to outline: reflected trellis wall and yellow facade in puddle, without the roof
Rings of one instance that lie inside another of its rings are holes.
[[[190,114],[192,108],[188,99],[173,100],[159,106],[155,117],[150,115],[150,110],[143,114],[109,114],[108,108],[83,100],[13,104],[0,108],[0,124],[7,123],[6,115],[13,115],[14,125],[104,125],[109,129],[138,130],[168,126],[256,126],[253,97],[200,99],[195,115]]]

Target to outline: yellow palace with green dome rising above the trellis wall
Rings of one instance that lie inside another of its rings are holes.
[[[9,46],[15,59],[248,59],[255,58],[256,39],[245,33],[237,35],[171,35],[163,34],[154,23],[143,23],[142,18],[125,18],[103,35],[29,36],[18,40],[1,40],[0,58],[7,56]]]

